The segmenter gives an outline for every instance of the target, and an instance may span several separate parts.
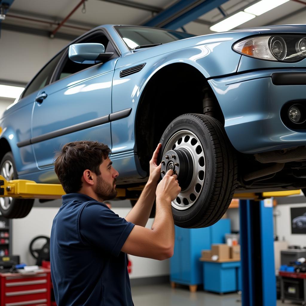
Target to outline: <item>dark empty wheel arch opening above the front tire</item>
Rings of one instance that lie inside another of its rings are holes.
[[[210,99],[215,111],[212,117],[224,125],[224,116],[205,72],[194,64],[171,62],[158,69],[145,84],[135,118],[136,151],[145,171],[148,171],[151,155],[169,123],[182,114],[204,114],[203,99]]]

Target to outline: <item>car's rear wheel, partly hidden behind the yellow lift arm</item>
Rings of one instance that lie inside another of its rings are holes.
[[[17,180],[17,171],[12,152],[7,152],[0,163],[0,174],[7,180]],[[3,217],[24,218],[31,211],[34,199],[0,198],[0,211]]]

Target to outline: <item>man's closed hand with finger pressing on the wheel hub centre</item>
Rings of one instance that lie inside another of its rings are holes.
[[[178,185],[177,175],[173,175],[173,170],[168,170],[156,188],[156,199],[169,199],[173,201],[181,192],[181,187]]]

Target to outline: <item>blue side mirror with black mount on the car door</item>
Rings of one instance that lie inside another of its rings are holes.
[[[98,64],[108,60],[114,53],[105,53],[102,43],[75,43],[69,46],[68,56],[76,63]]]

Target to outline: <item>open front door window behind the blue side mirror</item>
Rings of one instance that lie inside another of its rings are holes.
[[[108,38],[105,35],[102,35],[101,32],[87,37],[84,40],[78,41],[77,43],[102,43],[105,47],[105,52],[114,52],[114,55],[111,58],[118,56]],[[68,51],[66,51],[65,58],[63,59],[62,65],[57,72],[55,80],[61,80],[66,76],[70,76],[73,73],[79,72],[93,65],[96,64],[79,64],[71,61],[68,57]]]

